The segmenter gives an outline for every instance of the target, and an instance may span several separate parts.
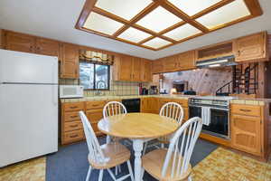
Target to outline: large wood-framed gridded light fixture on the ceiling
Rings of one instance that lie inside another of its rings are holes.
[[[261,14],[257,0],[86,0],[76,28],[159,51]]]

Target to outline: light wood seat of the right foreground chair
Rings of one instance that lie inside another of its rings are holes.
[[[171,177],[173,163],[170,162],[167,168],[167,172],[165,176],[162,176],[162,168],[164,165],[164,159],[166,157],[167,149],[155,149],[147,153],[145,156],[142,157],[142,166],[144,167],[145,171],[148,172],[154,178],[161,180],[161,181],[177,181],[177,180],[186,180],[188,176],[190,176],[192,172],[192,166],[189,165],[188,170],[183,173],[181,176]],[[171,159],[173,160],[173,159]],[[177,167],[177,164],[175,164]]]

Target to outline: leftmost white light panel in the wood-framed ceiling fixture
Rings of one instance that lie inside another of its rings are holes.
[[[116,33],[117,30],[123,25],[124,24],[118,23],[103,15],[91,12],[83,27],[89,30],[112,35],[113,33]]]

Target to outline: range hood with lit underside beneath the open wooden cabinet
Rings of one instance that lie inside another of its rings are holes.
[[[208,59],[204,61],[196,62],[197,68],[214,68],[214,67],[223,67],[223,66],[231,66],[237,65],[237,62],[234,62],[234,55],[223,56],[213,59]]]

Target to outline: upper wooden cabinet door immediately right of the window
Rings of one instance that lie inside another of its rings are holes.
[[[133,59],[130,56],[122,56],[119,62],[119,81],[132,80]]]

